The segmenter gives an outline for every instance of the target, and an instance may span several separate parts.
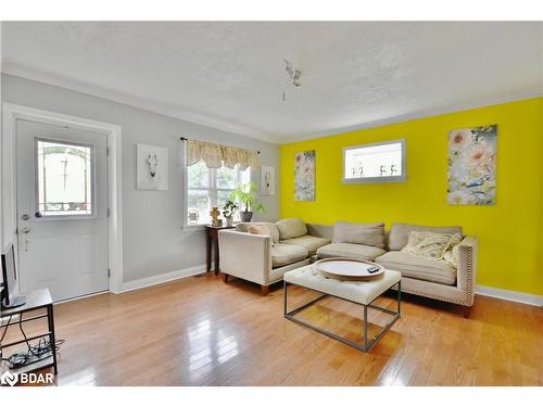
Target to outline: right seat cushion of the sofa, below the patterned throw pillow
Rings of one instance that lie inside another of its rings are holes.
[[[456,269],[445,260],[417,257],[402,252],[388,252],[375,259],[384,268],[397,270],[403,277],[454,285]]]

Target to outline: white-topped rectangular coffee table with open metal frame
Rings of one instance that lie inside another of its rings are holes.
[[[386,269],[382,277],[371,281],[349,281],[349,280],[337,280],[325,277],[320,271],[318,271],[315,265],[308,265],[304,267],[296,268],[291,271],[287,271],[283,276],[283,316],[285,318],[292,320],[294,322],[301,323],[305,327],[312,328],[317,332],[341,341],[348,345],[354,346],[361,351],[368,352],[371,346],[387,332],[390,327],[400,318],[400,307],[402,302],[402,287],[401,287],[402,275],[400,271]],[[323,295],[317,298],[310,301],[308,303],[293,309],[288,310],[288,285],[299,285],[305,289],[317,291]],[[386,291],[397,285],[397,308],[395,310],[382,308],[374,305],[374,301],[382,295]],[[295,318],[294,315],[302,309],[315,304],[317,301],[326,297],[334,296],[337,298],[346,300],[354,304],[362,305],[364,307],[364,335],[363,345],[340,336],[333,332],[327,331],[319,327],[315,327],[307,321]],[[368,340],[368,308],[376,309],[393,316],[393,319],[388,322],[382,330]]]

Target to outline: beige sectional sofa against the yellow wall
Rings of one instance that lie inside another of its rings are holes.
[[[473,304],[476,238],[463,236],[456,267],[443,259],[402,252],[412,231],[462,234],[460,227],[393,224],[387,232],[383,224],[338,222],[333,227],[283,219],[267,225],[278,229],[276,242],[268,236],[248,233],[247,224],[239,225],[236,231],[219,233],[223,272],[261,284],[263,293],[267,293],[269,284],[281,280],[285,271],[308,264],[310,257],[351,257],[401,271],[404,292],[467,307]]]

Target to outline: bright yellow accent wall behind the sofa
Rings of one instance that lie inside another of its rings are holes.
[[[447,133],[497,124],[496,204],[446,203]],[[543,98],[491,105],[280,147],[280,217],[460,225],[479,239],[477,283],[543,294]],[[407,181],[344,185],[342,149],[406,140]],[[316,198],[294,201],[294,153],[316,151]]]

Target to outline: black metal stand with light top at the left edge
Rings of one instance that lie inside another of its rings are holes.
[[[0,343],[0,351],[2,355],[4,354],[4,349],[9,347],[13,347],[15,345],[20,345],[27,341],[35,341],[40,338],[49,336],[49,342],[51,344],[51,352],[47,352],[45,355],[40,357],[31,358],[25,365],[9,369],[12,373],[31,373],[46,368],[53,368],[54,374],[58,373],[59,368],[56,364],[56,348],[55,348],[55,335],[54,335],[54,316],[53,316],[53,302],[51,300],[51,294],[48,289],[45,290],[35,290],[29,293],[25,293],[26,304],[17,307],[17,308],[9,308],[2,309],[0,313],[1,320],[5,318],[9,319],[9,322],[0,323],[0,331],[3,329],[8,329],[8,327],[13,325],[23,325],[28,321],[34,321],[37,319],[47,318],[48,331],[38,335],[34,335],[27,338],[26,340],[14,341],[10,343]],[[24,317],[25,314],[30,311],[36,311],[42,309],[43,314],[33,315],[29,317]],[[13,316],[17,316],[17,320],[11,321]],[[11,317],[11,318],[10,318]],[[5,357],[5,356],[4,356]]]

